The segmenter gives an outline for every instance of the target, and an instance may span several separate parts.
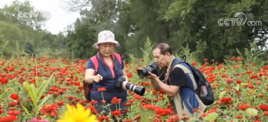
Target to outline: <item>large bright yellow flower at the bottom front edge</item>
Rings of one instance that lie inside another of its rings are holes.
[[[77,104],[76,108],[67,104],[67,110],[57,122],[99,122],[96,115],[91,114],[90,109],[86,109]]]

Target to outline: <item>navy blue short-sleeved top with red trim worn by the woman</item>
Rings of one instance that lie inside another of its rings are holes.
[[[104,98],[106,103],[110,103],[113,97],[117,97],[117,99],[122,99],[122,101],[127,100],[127,91],[123,90],[122,88],[118,88],[115,86],[115,83],[117,81],[117,78],[123,75],[123,69],[124,69],[124,62],[121,60],[121,63],[115,58],[114,61],[115,64],[112,63],[111,66],[103,60],[105,63],[105,66],[103,66],[98,59],[98,71],[97,74],[100,74],[103,77],[102,81],[99,81],[99,83],[93,82],[92,92],[90,94],[90,97],[92,100],[96,100],[101,102]],[[117,73],[115,73],[115,67],[117,67]],[[106,68],[104,68],[106,67]],[[86,69],[94,69],[93,62],[89,59],[87,61]],[[100,91],[97,91],[98,88],[105,87],[106,91],[102,91],[102,94]]]

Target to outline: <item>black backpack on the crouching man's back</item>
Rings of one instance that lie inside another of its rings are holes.
[[[214,95],[212,88],[210,84],[207,82],[206,77],[204,74],[193,67],[191,64],[186,62],[186,55],[183,56],[183,60],[177,60],[174,64],[180,64],[180,63],[185,63],[187,64],[190,69],[192,70],[193,77],[195,78],[195,81],[197,83],[197,89],[194,90],[192,88],[189,88],[191,91],[195,92],[197,96],[200,98],[200,100],[204,103],[204,105],[211,105],[214,103]],[[172,65],[172,69],[174,68],[175,65]]]

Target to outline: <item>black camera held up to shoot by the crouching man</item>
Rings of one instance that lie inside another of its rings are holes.
[[[159,71],[158,65],[155,62],[151,62],[147,67],[137,69],[137,74],[140,78],[143,78],[149,75],[148,72],[157,75],[159,74],[158,71]]]

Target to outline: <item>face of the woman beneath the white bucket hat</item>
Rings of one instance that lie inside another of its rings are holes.
[[[103,57],[109,57],[111,54],[113,54],[114,43],[108,42],[99,44],[99,51]]]

